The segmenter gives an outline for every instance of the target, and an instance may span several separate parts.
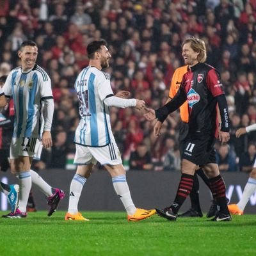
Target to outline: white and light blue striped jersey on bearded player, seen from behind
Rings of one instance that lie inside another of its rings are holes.
[[[86,67],[77,77],[75,89],[81,120],[74,142],[88,147],[104,147],[113,142],[109,107],[103,101],[113,95],[109,74],[95,67]]]

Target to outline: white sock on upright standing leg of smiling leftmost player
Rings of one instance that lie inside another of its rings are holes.
[[[31,189],[31,176],[29,171],[19,172],[19,210],[21,212],[27,211],[28,197]]]

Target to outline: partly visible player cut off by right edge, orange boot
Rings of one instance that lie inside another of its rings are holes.
[[[246,134],[248,132],[252,132],[256,130],[256,124],[249,125],[247,127],[239,128],[236,131],[236,137],[239,138],[241,135]],[[228,205],[228,210],[231,214],[234,215],[243,215],[244,208],[248,203],[250,196],[256,191],[256,160],[253,164],[252,172],[250,173],[250,177],[248,182],[246,183],[243,191],[243,195],[240,201],[237,204]]]

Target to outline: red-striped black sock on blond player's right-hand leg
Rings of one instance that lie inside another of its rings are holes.
[[[220,212],[228,213],[228,206],[226,200],[226,186],[221,175],[209,179],[212,195],[217,204],[220,205]]]

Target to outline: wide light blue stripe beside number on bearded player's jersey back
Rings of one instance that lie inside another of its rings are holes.
[[[95,74],[90,74],[89,82],[88,82],[88,104],[90,113],[92,116],[90,117],[90,128],[91,128],[91,143],[93,146],[99,146],[99,136],[98,136],[98,123],[97,123],[97,108],[95,101],[95,92],[94,92],[94,79]]]

